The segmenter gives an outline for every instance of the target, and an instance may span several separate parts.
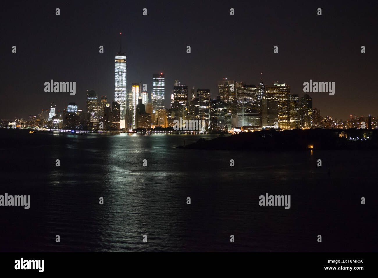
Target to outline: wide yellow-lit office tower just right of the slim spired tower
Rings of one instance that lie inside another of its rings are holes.
[[[290,129],[290,86],[284,83],[265,86],[265,96],[278,101],[278,127]]]

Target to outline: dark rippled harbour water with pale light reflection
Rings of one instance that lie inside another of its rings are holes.
[[[0,194],[31,196],[28,210],[0,207],[0,251],[378,251],[377,150],[201,151],[174,148],[198,135],[0,135]],[[265,193],[291,195],[291,208],[260,207]]]

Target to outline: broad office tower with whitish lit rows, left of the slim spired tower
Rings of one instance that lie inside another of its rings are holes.
[[[243,85],[237,89],[237,127],[261,126],[261,113],[257,110],[257,88]]]

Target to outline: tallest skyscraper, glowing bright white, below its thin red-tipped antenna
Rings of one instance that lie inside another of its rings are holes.
[[[120,107],[120,128],[126,127],[126,55],[122,53],[121,47],[119,53],[115,56],[115,88],[114,100]]]

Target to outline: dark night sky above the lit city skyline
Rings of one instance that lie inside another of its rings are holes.
[[[150,93],[152,74],[163,72],[166,107],[175,79],[189,88],[210,89],[215,97],[218,80],[257,86],[262,73],[265,85],[286,83],[300,96],[310,79],[335,82],[334,96],[310,93],[322,116],[378,116],[374,2],[6,2],[0,19],[2,119],[38,115],[52,102],[59,110],[70,102],[85,110],[87,90],[112,101],[120,32],[127,89],[141,82]],[[76,95],[45,93],[50,79],[75,81]]]

